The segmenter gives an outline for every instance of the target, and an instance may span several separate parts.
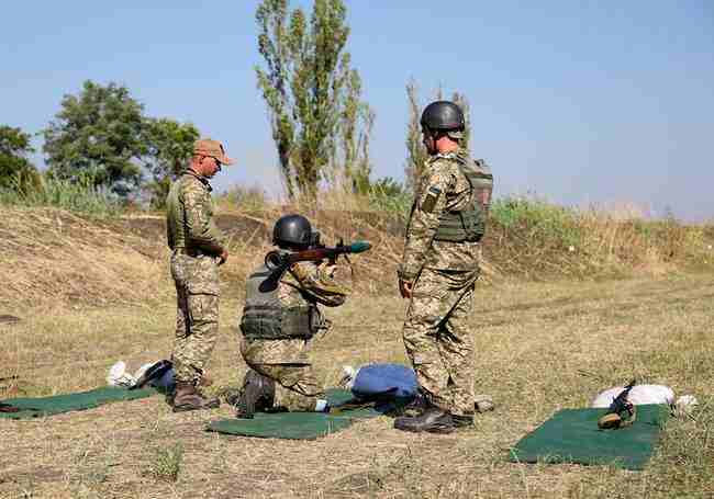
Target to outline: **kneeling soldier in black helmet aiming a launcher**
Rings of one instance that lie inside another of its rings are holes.
[[[310,220],[301,215],[281,217],[272,230],[272,243],[281,252],[305,250],[316,242]],[[253,372],[246,374],[237,417],[269,410],[274,402],[290,411],[327,410],[324,388],[312,368],[310,340],[330,327],[319,305],[336,307],[347,297],[348,290],[333,279],[334,270],[298,262],[276,281],[276,271],[263,264],[248,276],[241,354]]]

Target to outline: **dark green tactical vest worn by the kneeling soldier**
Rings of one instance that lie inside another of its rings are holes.
[[[243,336],[261,340],[311,338],[320,326],[317,307],[309,302],[297,307],[283,307],[278,298],[278,286],[261,286],[270,273],[263,265],[248,277],[241,318]]]

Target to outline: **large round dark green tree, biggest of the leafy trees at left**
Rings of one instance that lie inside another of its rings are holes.
[[[85,81],[79,95],[63,98],[56,120],[43,132],[49,172],[59,179],[90,174],[108,188],[138,186],[146,152],[143,111],[126,87]]]

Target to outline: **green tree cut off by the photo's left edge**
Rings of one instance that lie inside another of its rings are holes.
[[[22,129],[0,125],[0,189],[25,191],[40,185],[37,169],[27,159],[35,151],[30,140]]]

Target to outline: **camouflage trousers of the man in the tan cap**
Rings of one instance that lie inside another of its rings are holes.
[[[198,384],[219,336],[220,287],[211,257],[171,257],[176,284],[176,339],[171,360],[177,382]]]

